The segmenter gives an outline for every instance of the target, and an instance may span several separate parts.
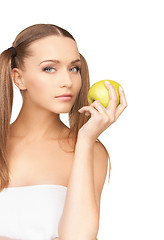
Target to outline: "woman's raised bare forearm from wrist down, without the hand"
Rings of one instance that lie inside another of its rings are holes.
[[[94,144],[78,134],[65,206],[59,222],[59,239],[96,239],[99,212],[93,174]]]

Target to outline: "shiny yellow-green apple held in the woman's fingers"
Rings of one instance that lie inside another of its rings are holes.
[[[115,88],[116,94],[118,97],[118,102],[117,106],[120,103],[120,97],[119,97],[119,92],[118,88],[119,86],[122,87],[118,82],[115,82],[113,80],[101,80],[99,82],[96,82],[91,86],[91,88],[88,91],[88,103],[89,105],[92,104],[95,100],[99,100],[99,102],[106,108],[109,104],[110,101],[110,96],[109,96],[109,90],[105,86],[105,81],[109,81]]]

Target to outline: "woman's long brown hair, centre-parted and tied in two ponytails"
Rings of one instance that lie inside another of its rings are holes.
[[[10,119],[13,104],[13,82],[11,71],[13,68],[24,68],[25,58],[30,56],[28,47],[31,43],[51,35],[69,37],[75,41],[73,36],[68,31],[59,26],[53,24],[35,24],[27,27],[17,35],[15,41],[12,44],[12,46],[16,49],[17,52],[16,57],[12,58],[11,49],[3,51],[0,55],[0,191],[2,191],[4,188],[7,188],[10,182],[9,167],[7,164],[7,139],[9,136]],[[80,54],[80,59],[82,63],[80,71],[82,86],[76,102],[74,103],[71,111],[69,112],[70,132],[67,138],[69,140],[70,134],[73,134],[73,151],[75,151],[75,145],[79,129],[90,118],[90,116],[85,116],[84,114],[80,114],[78,112],[79,108],[89,105],[87,94],[90,88],[89,70],[87,62],[82,56],[82,54]],[[20,93],[23,98],[23,90],[20,90]],[[100,142],[99,139],[97,139],[97,141]],[[110,157],[105,146],[103,144],[102,146],[104,147],[109,159],[110,178]]]

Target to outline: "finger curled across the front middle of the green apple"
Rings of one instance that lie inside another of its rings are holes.
[[[106,83],[106,81],[105,81],[105,86],[108,88],[109,96],[110,96],[109,104],[106,109],[110,110],[112,112],[115,112],[116,107],[117,107],[118,98],[117,98],[117,94],[116,94],[116,90],[115,90],[114,86],[112,84],[110,84],[110,83],[108,84],[108,83]]]

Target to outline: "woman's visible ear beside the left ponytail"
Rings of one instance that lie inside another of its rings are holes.
[[[20,90],[25,90],[26,86],[25,86],[25,82],[23,80],[22,71],[18,68],[13,68],[11,74],[12,74],[12,79],[13,79],[13,82],[15,83],[15,85]]]

